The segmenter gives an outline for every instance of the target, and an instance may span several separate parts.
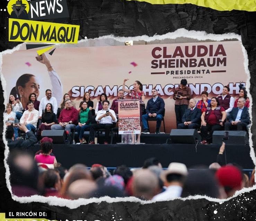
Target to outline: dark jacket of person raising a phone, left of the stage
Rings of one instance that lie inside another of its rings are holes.
[[[37,142],[37,138],[35,137],[33,132],[28,131],[26,133],[26,135],[28,136],[27,140],[24,140],[23,138],[19,138],[18,140],[15,140],[15,141],[13,141],[11,139],[7,139],[8,146],[9,146],[10,150],[12,150],[14,148],[28,149],[28,148],[32,147]]]

